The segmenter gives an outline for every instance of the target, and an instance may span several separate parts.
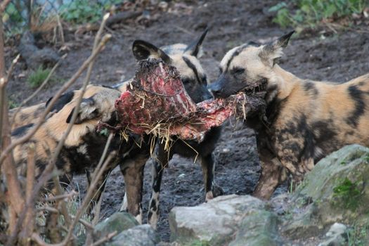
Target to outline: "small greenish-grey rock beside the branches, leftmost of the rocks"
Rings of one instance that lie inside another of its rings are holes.
[[[95,226],[93,235],[95,238],[101,238],[114,231],[120,233],[134,226],[138,226],[138,222],[134,219],[134,216],[126,212],[116,212],[109,218],[98,223]]]

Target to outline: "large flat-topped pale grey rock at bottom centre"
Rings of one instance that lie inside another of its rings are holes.
[[[169,213],[171,241],[179,245],[224,245],[240,228],[233,245],[273,243],[276,216],[265,209],[263,201],[250,195],[226,195],[196,207],[174,207]]]

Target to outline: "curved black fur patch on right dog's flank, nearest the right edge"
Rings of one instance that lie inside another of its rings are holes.
[[[351,116],[346,119],[347,124],[351,124],[354,127],[358,125],[358,119],[365,112],[365,101],[364,101],[364,91],[358,89],[358,86],[349,86],[349,95],[352,100],[355,101],[355,109]]]

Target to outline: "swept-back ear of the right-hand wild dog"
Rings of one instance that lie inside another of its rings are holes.
[[[283,48],[287,46],[292,34],[294,34],[294,31],[283,35],[269,44],[266,44],[259,53],[261,60],[266,63],[266,65],[273,67],[273,65],[276,64],[283,56]]]

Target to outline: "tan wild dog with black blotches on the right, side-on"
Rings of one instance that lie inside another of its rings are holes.
[[[254,195],[270,198],[289,171],[301,181],[322,157],[342,146],[369,145],[369,74],[344,84],[299,79],[277,63],[293,32],[265,45],[226,53],[210,86],[216,97],[266,90],[265,122],[247,119],[257,133],[261,176]]]

